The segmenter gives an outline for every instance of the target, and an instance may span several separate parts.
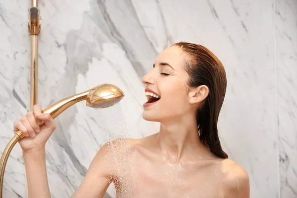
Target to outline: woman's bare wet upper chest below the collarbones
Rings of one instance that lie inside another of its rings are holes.
[[[219,170],[136,160],[120,171],[118,198],[223,198]]]

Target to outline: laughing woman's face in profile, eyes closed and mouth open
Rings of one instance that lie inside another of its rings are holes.
[[[143,112],[145,120],[179,120],[191,111],[191,107],[193,109],[187,91],[189,75],[184,67],[185,53],[182,54],[178,47],[165,49],[157,56],[154,68],[142,79],[146,85],[146,95],[151,92],[155,94],[147,96],[148,102],[144,104]]]

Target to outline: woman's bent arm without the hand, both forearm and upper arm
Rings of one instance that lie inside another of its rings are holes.
[[[45,149],[23,152],[26,167],[28,194],[30,198],[50,198],[46,170]],[[93,159],[86,177],[72,198],[103,198],[111,183],[110,167],[106,163],[103,148]]]

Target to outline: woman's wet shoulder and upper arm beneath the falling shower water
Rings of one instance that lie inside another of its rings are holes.
[[[120,171],[127,167],[133,142],[130,139],[116,139],[105,143],[92,160],[83,183],[72,197],[103,198],[109,184],[116,183]]]

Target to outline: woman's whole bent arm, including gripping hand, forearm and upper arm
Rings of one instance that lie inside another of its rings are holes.
[[[45,125],[40,127],[42,121]],[[50,198],[45,145],[55,128],[52,117],[42,113],[40,105],[34,105],[33,112],[27,112],[26,116],[13,123],[14,132],[20,130],[26,136],[19,141],[19,144],[23,150],[29,198]],[[107,153],[113,150],[108,147],[105,145],[98,151],[73,198],[103,198],[112,179],[107,173],[113,172],[104,157],[105,150]],[[105,149],[104,152],[103,149]]]

